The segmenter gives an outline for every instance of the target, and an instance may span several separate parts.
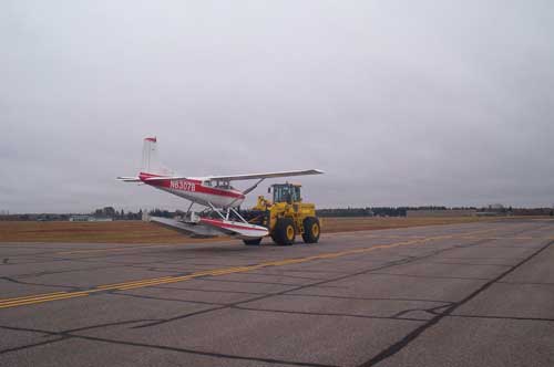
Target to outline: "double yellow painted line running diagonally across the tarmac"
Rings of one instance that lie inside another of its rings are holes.
[[[188,281],[188,280],[193,280],[193,279],[202,277],[202,276],[218,276],[218,275],[227,275],[227,274],[235,274],[235,273],[244,273],[244,272],[249,272],[253,270],[258,270],[258,269],[268,268],[268,266],[284,266],[284,265],[299,264],[299,263],[305,263],[305,262],[316,261],[316,260],[336,259],[336,258],[351,255],[351,254],[367,253],[367,252],[371,252],[371,251],[376,251],[376,250],[392,249],[392,248],[411,245],[411,244],[423,244],[423,243],[427,243],[430,241],[452,239],[454,237],[461,237],[461,238],[471,237],[474,234],[490,232],[490,231],[493,231],[493,230],[475,231],[475,232],[462,233],[462,234],[458,234],[458,235],[453,234],[453,235],[430,237],[430,238],[416,239],[416,240],[410,240],[410,241],[396,242],[396,243],[391,243],[391,244],[380,244],[380,245],[375,245],[371,248],[361,248],[361,249],[346,250],[346,251],[339,251],[339,252],[320,253],[317,255],[306,256],[306,258],[268,261],[268,262],[263,262],[259,264],[247,265],[247,266],[233,266],[233,268],[206,270],[206,271],[201,271],[201,272],[196,272],[196,273],[192,273],[192,274],[187,274],[187,275],[181,275],[181,276],[162,276],[162,277],[138,280],[138,281],[105,284],[105,285],[95,286],[95,287],[86,290],[86,291],[53,292],[53,293],[28,295],[28,296],[16,297],[16,298],[4,298],[4,300],[0,300],[0,308],[19,307],[19,306],[38,304],[38,303],[45,303],[45,302],[52,302],[52,301],[84,297],[84,296],[88,296],[90,294],[98,293],[98,292],[126,291],[126,290],[133,290],[133,289],[140,289],[140,287],[153,286],[153,285],[184,282],[184,281]]]

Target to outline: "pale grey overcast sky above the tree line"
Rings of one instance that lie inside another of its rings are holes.
[[[151,135],[187,176],[324,169],[319,207],[552,206],[553,40],[551,0],[2,1],[0,210],[186,208],[114,180]]]

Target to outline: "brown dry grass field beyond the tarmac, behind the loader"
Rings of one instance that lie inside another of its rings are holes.
[[[491,221],[499,218],[324,218],[325,233]],[[10,222],[0,221],[0,242],[194,243],[222,240],[191,239],[142,221]]]

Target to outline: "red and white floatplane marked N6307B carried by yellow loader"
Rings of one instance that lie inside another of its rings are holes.
[[[136,177],[117,177],[124,182],[140,182],[167,191],[191,201],[185,218],[181,220],[151,217],[150,220],[177,229],[192,237],[233,235],[244,240],[263,238],[268,229],[248,223],[236,210],[250,191],[266,178],[291,177],[322,174],[318,169],[290,170],[249,175],[189,177],[172,172],[158,164],[157,140],[155,137],[144,139],[142,169]],[[244,191],[235,189],[230,182],[254,180],[256,184]],[[191,211],[194,203],[206,207],[198,216]],[[214,218],[215,217],[215,218]]]

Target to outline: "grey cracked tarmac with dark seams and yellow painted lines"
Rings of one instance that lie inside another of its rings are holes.
[[[0,366],[554,366],[554,221],[0,244]]]

